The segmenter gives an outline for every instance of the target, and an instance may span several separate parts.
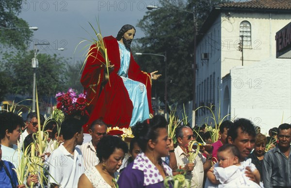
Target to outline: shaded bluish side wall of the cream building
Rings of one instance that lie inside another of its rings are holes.
[[[220,61],[221,61],[221,45],[220,45],[220,39],[221,39],[221,29],[220,29],[220,22],[221,17],[218,16],[218,18],[213,23],[213,26],[210,27],[210,29],[205,33],[202,41],[198,44],[196,49],[196,63],[198,66],[198,71],[196,72],[196,86],[200,88],[200,90],[197,90],[196,87],[196,102],[199,105],[200,101],[205,102],[205,105],[207,102],[215,101],[215,105],[218,105],[217,95],[218,91],[217,89],[214,89],[213,87],[215,85],[220,85],[220,80],[217,80],[217,78],[220,78]],[[201,60],[201,53],[209,53],[209,60]],[[213,73],[215,73],[213,75]],[[212,81],[210,81],[210,75]],[[213,76],[215,78],[213,78]],[[207,78],[209,78],[209,81],[207,82]],[[204,82],[207,82],[206,84],[209,87],[210,90],[210,84],[211,84],[211,90],[208,92],[208,100],[206,100],[206,94],[204,92]],[[203,86],[200,85],[203,82]],[[203,90],[201,94],[201,89]],[[199,92],[200,91],[200,92]],[[205,111],[205,113],[202,113],[202,111]],[[197,125],[202,125],[204,123],[210,124],[210,118],[208,121],[205,119],[206,117],[209,117],[211,115],[210,110],[199,110],[198,111],[198,119],[196,121]]]

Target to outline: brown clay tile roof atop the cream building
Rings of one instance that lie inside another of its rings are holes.
[[[291,10],[291,0],[248,0],[244,2],[226,2],[219,5],[227,8],[284,9]]]

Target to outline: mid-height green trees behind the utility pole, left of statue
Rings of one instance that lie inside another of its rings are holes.
[[[0,101],[6,94],[28,95],[32,99],[34,51],[4,52],[0,59]],[[80,79],[82,62],[73,63],[56,54],[38,54],[36,85],[39,100],[51,103],[55,94],[73,88],[83,91]],[[45,100],[46,99],[46,100]],[[54,105],[54,104],[51,104]]]

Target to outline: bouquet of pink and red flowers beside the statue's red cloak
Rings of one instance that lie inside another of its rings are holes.
[[[70,88],[67,93],[60,92],[56,94],[57,109],[62,110],[65,115],[71,115],[80,112],[81,115],[89,115],[86,110],[86,94],[78,95]]]

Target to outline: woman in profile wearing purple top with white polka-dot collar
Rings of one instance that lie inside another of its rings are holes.
[[[161,157],[169,154],[167,121],[161,115],[154,116],[132,127],[142,152],[130,163],[118,178],[119,188],[160,188],[172,169]]]

